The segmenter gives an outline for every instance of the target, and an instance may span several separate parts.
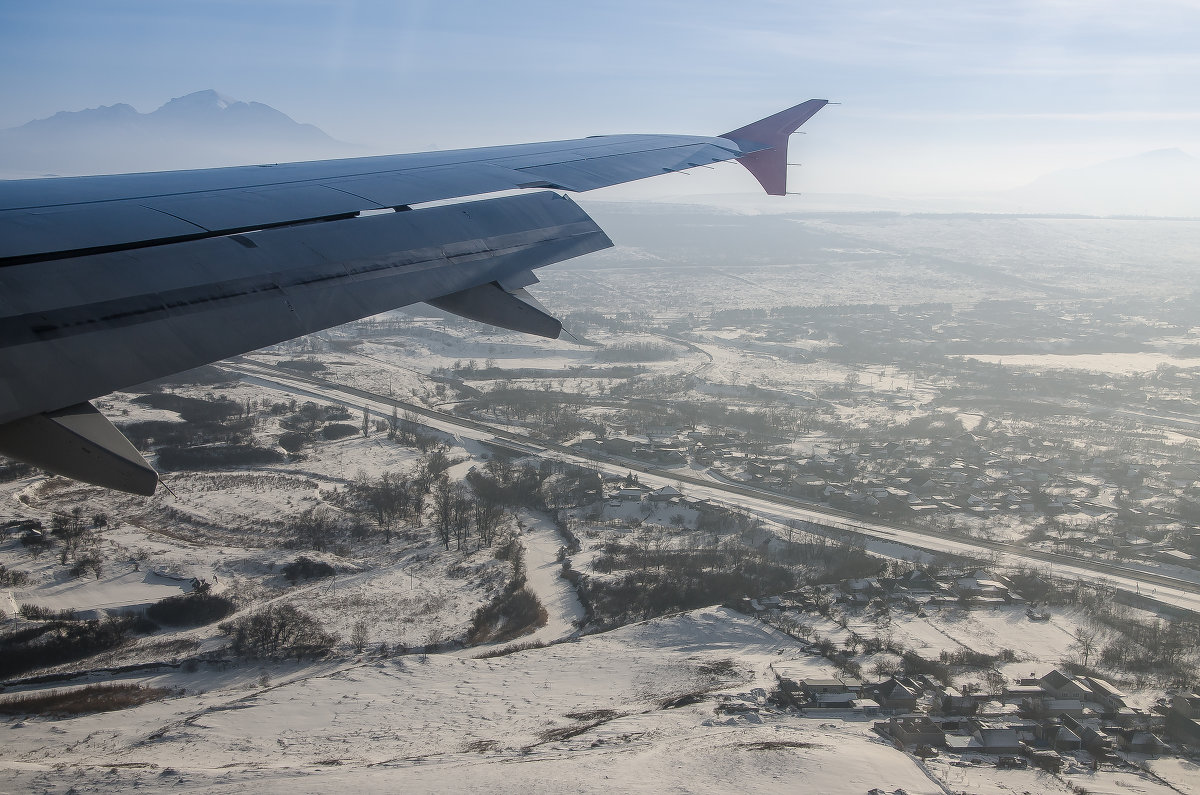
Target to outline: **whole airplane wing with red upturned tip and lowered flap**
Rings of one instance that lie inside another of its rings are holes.
[[[90,400],[416,301],[557,337],[533,270],[612,245],[557,191],[737,159],[781,195],[788,136],[826,103],[720,137],[0,181],[0,454],[149,495]]]

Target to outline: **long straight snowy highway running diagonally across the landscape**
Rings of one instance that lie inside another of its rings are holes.
[[[960,538],[935,530],[901,527],[829,508],[821,503],[776,495],[732,483],[721,483],[690,474],[686,471],[665,470],[640,461],[618,459],[598,453],[582,454],[575,448],[535,440],[523,434],[494,428],[487,423],[456,417],[379,395],[332,383],[312,376],[286,371],[238,357],[221,364],[239,372],[245,379],[263,387],[301,395],[316,400],[367,407],[379,417],[391,417],[392,408],[422,418],[422,424],[450,434],[457,438],[472,438],[512,449],[528,455],[541,455],[593,468],[624,474],[636,471],[646,485],[688,484],[695,497],[702,497],[761,514],[779,522],[799,520],[840,532],[858,533],[869,538],[890,542],[901,546],[928,552],[944,552],[992,560],[1001,566],[1049,569],[1055,576],[1078,578],[1112,588],[1136,593],[1153,602],[1200,614],[1200,584],[1153,572],[1144,572],[1129,566],[1104,561],[1079,560],[1066,555],[1030,550],[1008,542],[980,538]]]

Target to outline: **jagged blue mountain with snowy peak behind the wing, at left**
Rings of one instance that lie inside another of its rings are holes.
[[[151,113],[119,103],[64,110],[0,130],[0,175],[100,174],[209,168],[360,154],[262,102],[214,90]]]

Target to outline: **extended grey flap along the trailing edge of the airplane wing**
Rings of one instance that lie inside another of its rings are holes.
[[[0,423],[612,245],[547,192],[238,237],[0,268]]]

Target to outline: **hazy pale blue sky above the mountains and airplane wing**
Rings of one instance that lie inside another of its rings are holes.
[[[985,190],[1200,155],[1198,31],[1189,0],[2,2],[0,127],[212,88],[412,151],[713,135],[824,97],[805,190]]]

